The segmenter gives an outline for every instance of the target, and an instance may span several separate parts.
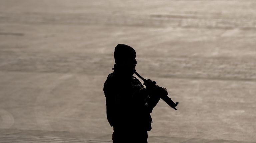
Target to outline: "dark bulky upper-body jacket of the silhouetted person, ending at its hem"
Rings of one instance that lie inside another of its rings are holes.
[[[105,84],[107,119],[114,130],[151,130],[147,98],[141,94],[143,85],[135,77],[123,79],[111,73]]]

